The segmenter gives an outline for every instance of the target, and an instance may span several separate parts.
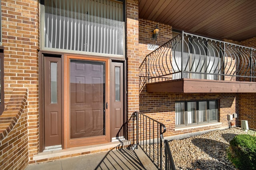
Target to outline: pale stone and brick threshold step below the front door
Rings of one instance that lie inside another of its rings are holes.
[[[115,142],[98,144],[98,145],[88,145],[82,147],[74,147],[68,149],[58,149],[58,150],[49,150],[45,152],[38,153],[33,156],[35,163],[48,162],[50,160],[58,160],[62,158],[70,158],[74,156],[81,156],[85,154],[92,154],[97,152],[104,152],[112,149],[120,149],[123,147],[128,147],[131,144],[130,141],[126,139],[118,140]]]

